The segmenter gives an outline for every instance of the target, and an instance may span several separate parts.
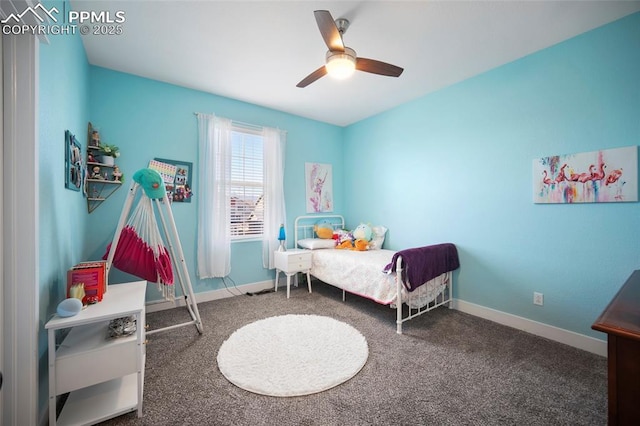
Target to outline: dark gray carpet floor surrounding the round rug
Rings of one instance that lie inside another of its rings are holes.
[[[606,425],[606,359],[445,307],[395,332],[395,311],[320,282],[198,305],[204,332],[149,336],[143,417],[104,425]],[[253,394],[216,365],[222,342],[256,320],[326,315],[367,339],[351,380],[293,398]],[[151,329],[184,322],[186,308],[147,315]]]

